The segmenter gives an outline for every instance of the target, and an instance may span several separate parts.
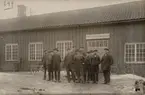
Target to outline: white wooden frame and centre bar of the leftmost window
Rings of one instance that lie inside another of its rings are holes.
[[[18,57],[19,57],[19,45],[17,43],[9,43],[9,44],[5,45],[5,61],[18,61],[19,60],[19,58],[17,58],[17,60],[13,59],[13,54],[12,54],[13,53],[13,48],[12,48],[13,45],[18,46],[18,52],[17,53],[18,53]],[[11,59],[10,60],[7,60],[7,48],[6,48],[7,46],[11,46]]]

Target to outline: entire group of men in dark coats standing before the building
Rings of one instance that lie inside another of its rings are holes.
[[[68,48],[63,60],[68,82],[73,80],[76,83],[90,81],[98,83],[99,65],[101,64],[104,83],[110,83],[110,70],[113,58],[108,48],[105,48],[104,51],[105,54],[100,58],[97,50],[91,50],[86,53],[84,47],[79,49],[75,49],[75,47]],[[42,62],[44,66],[44,79],[46,79],[46,72],[48,71],[48,81],[54,78],[56,82],[60,82],[60,64],[62,62],[58,49],[45,51]]]

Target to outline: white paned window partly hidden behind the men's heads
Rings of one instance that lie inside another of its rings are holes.
[[[72,48],[73,43],[72,41],[57,41],[56,42],[56,47],[58,48],[60,55],[61,55],[61,59],[63,60],[65,55],[66,55],[66,50],[68,48]]]

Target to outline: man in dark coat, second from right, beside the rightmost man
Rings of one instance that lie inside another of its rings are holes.
[[[97,50],[94,50],[91,58],[91,72],[93,83],[98,83],[100,57],[97,52]]]

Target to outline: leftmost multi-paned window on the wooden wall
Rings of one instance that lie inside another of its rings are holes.
[[[5,46],[5,60],[18,61],[18,44],[6,44]]]

